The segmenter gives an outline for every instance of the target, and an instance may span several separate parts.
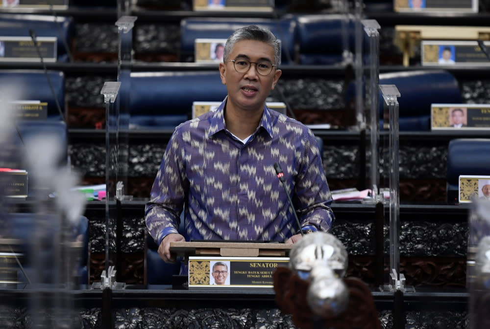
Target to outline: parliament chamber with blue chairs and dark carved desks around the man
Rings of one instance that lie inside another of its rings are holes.
[[[0,327],[490,328],[490,1],[207,2],[0,0]],[[250,24],[281,42],[266,101],[318,141],[337,317],[285,273],[189,286],[147,232],[172,132],[227,95],[215,45]]]

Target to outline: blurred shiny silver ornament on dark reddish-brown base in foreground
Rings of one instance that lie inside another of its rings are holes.
[[[293,245],[289,267],[274,272],[276,303],[302,329],[380,329],[368,286],[343,278],[347,251],[333,235],[314,232]]]

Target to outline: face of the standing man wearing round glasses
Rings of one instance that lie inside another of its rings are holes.
[[[269,44],[256,40],[242,40],[235,44],[228,60],[246,59],[250,62],[274,61],[274,49]],[[262,110],[270,90],[274,89],[281,70],[272,67],[269,75],[257,73],[255,64],[248,71],[239,73],[233,62],[220,63],[221,82],[228,90],[227,110]]]

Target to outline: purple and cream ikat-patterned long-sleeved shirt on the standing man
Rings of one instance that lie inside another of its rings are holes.
[[[311,130],[265,107],[244,144],[226,130],[225,104],[172,134],[145,209],[150,235],[160,244],[178,233],[185,203],[186,241],[287,240],[298,227],[276,162],[302,228],[328,231],[332,196]]]

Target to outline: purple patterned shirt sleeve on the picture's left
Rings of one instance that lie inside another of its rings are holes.
[[[180,213],[189,188],[182,143],[177,128],[167,145],[145,207],[148,232],[159,245],[166,235],[178,233]]]

